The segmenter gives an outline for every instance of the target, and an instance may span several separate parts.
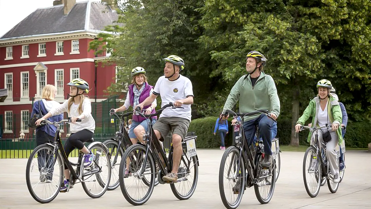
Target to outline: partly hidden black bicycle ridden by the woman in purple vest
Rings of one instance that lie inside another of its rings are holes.
[[[108,186],[108,190],[115,190],[120,185],[119,181],[119,167],[121,162],[121,157],[124,155],[124,152],[132,144],[129,134],[124,126],[124,117],[122,115],[116,114],[113,110],[110,110],[109,115],[116,116],[120,120],[119,131],[116,131],[116,138],[111,138],[103,142],[110,150],[111,154],[111,181]],[[120,158],[118,158],[120,157]],[[118,163],[119,162],[119,163]],[[149,183],[146,179],[143,179],[143,182],[149,186]],[[158,181],[155,181],[155,186],[157,186]]]

